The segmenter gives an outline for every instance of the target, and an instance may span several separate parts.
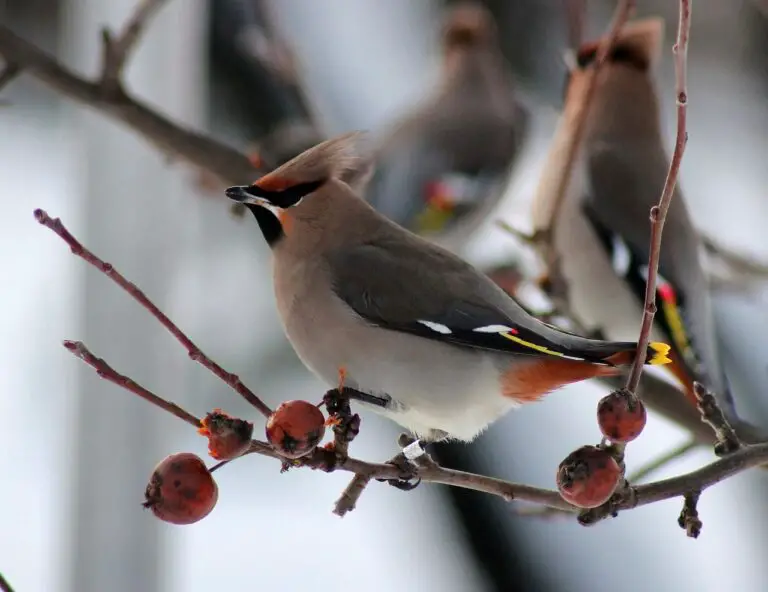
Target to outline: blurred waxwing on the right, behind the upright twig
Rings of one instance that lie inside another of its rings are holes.
[[[599,72],[562,205],[553,207],[552,194],[546,192],[533,204],[534,229],[548,228],[552,220],[551,236],[570,312],[587,330],[600,331],[608,339],[626,339],[639,330],[649,212],[659,200],[669,168],[653,81],[663,27],[660,18],[624,27]],[[555,139],[555,146],[573,133],[569,114],[583,101],[597,45],[583,45],[576,56],[559,130],[563,136]],[[554,185],[554,171],[559,168],[556,164],[547,168],[547,183]],[[686,202],[676,190],[664,226],[652,338],[672,345],[672,362],[665,370],[681,383],[691,404],[696,404],[696,380],[716,394],[726,417],[740,426],[742,437],[759,439],[755,429],[736,415],[718,351],[701,250]]]

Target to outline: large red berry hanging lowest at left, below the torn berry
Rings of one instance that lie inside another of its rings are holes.
[[[171,524],[193,524],[211,513],[219,488],[203,460],[189,452],[167,456],[155,467],[144,507]]]

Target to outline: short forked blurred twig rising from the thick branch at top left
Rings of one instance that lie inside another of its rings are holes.
[[[166,0],[139,0],[118,36],[106,27],[102,29],[101,83],[105,91],[120,89],[126,61],[149,21],[165,3]]]

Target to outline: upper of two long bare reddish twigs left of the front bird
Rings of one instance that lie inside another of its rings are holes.
[[[35,210],[35,219],[42,224],[50,228],[64,242],[66,242],[72,253],[93,265],[96,269],[106,275],[109,279],[115,282],[123,290],[125,290],[134,300],[136,300],[141,306],[146,308],[152,316],[154,316],[160,324],[165,327],[171,335],[173,335],[181,345],[186,348],[189,357],[194,361],[199,362],[202,366],[210,370],[213,374],[218,376],[227,385],[229,385],[237,394],[243,399],[253,405],[262,415],[269,417],[272,414],[272,410],[264,404],[264,402],[251,391],[236,374],[232,374],[224,370],[211,358],[205,355],[202,350],[195,345],[195,343],[187,337],[184,332],[179,329],[171,319],[169,319],[147,296],[142,292],[135,284],[129,282],[118,272],[110,263],[106,263],[94,255],[91,251],[83,247],[83,245],[65,228],[58,218],[51,218],[44,210]]]

